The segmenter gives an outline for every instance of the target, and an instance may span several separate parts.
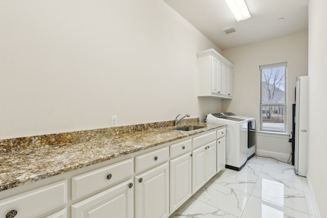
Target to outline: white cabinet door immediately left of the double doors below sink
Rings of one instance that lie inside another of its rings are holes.
[[[170,161],[170,213],[192,196],[191,152]]]

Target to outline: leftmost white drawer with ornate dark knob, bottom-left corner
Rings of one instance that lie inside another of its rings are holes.
[[[0,217],[6,217],[9,211],[16,211],[17,215],[15,218],[32,218],[60,207],[65,203],[67,203],[67,180],[1,200]]]

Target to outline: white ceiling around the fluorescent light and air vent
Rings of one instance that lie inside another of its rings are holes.
[[[164,1],[221,50],[308,30],[309,0],[245,0],[251,17],[239,22],[224,0]]]

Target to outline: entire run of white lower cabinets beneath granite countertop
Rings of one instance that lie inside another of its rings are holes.
[[[167,218],[224,169],[225,129],[149,150],[0,197],[0,217]]]

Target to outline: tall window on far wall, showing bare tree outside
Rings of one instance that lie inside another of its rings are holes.
[[[260,130],[286,132],[287,62],[260,68]]]

